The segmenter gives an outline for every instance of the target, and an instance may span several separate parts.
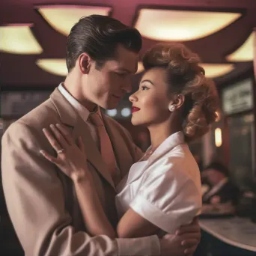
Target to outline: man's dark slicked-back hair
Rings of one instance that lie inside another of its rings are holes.
[[[142,45],[141,34],[118,19],[109,16],[91,15],[79,19],[67,37],[67,70],[75,67],[76,60],[86,52],[97,67],[111,58],[115,58],[115,50],[121,44],[132,52],[139,52]]]

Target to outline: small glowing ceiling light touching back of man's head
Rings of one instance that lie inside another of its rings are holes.
[[[36,64],[46,72],[57,76],[67,76],[67,66],[64,58],[42,58]]]

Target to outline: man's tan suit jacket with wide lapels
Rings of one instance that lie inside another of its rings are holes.
[[[121,177],[141,156],[129,133],[103,115]],[[40,154],[55,151],[43,135],[50,124],[82,135],[95,187],[112,225],[117,224],[115,185],[91,138],[88,125],[58,89],[49,100],[12,124],[2,138],[2,182],[7,209],[26,256],[159,255],[156,236],[111,240],[86,233],[72,180]]]

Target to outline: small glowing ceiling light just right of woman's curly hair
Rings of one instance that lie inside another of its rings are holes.
[[[205,76],[208,78],[215,78],[218,76],[224,76],[234,70],[234,64],[208,64],[202,63],[201,67],[204,67]]]

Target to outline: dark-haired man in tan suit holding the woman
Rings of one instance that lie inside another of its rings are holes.
[[[109,221],[116,225],[115,182],[140,158],[141,151],[121,125],[102,115],[107,131],[104,139],[109,145],[110,138],[112,144],[105,152],[100,147],[103,135],[97,133],[90,113],[97,106],[114,109],[131,91],[129,79],[137,70],[140,49],[141,36],[134,28],[107,16],[80,19],[67,39],[69,73],[64,83],[5,132],[4,194],[26,256],[183,255],[195,251],[200,239],[198,224],[180,228],[186,234],[174,239],[168,235],[161,240],[156,236],[130,240],[91,237],[71,180],[40,155],[40,149],[55,153],[42,132],[50,124],[66,125],[75,139],[81,135],[101,203]],[[112,156],[103,159],[103,155],[111,151],[115,153],[115,170],[106,171]]]

